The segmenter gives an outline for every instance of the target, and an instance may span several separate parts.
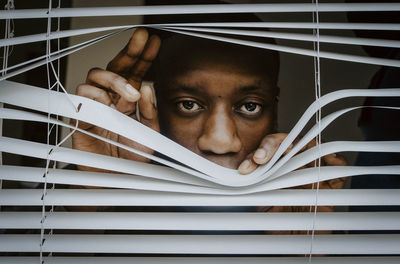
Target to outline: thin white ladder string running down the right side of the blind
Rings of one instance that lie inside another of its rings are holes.
[[[314,16],[313,16],[314,20]],[[319,42],[319,12],[318,12],[318,0],[315,0],[315,21],[316,27],[313,30],[313,33],[316,35],[316,45],[314,43],[314,49],[316,48],[317,50],[317,56],[316,58],[314,57],[314,71],[315,71],[315,79],[316,79],[316,86],[315,86],[315,92],[316,92],[316,100],[319,102],[319,98],[321,97],[321,61],[320,61],[320,42]],[[313,244],[314,244],[314,238],[315,238],[315,222],[317,218],[317,210],[318,210],[318,192],[319,192],[319,180],[320,180],[320,174],[321,174],[321,106],[319,105],[318,107],[318,112],[316,115],[317,119],[317,124],[318,124],[318,135],[316,138],[316,145],[318,147],[318,159],[317,159],[317,166],[318,166],[318,172],[317,172],[317,188],[315,192],[315,205],[314,205],[314,214],[313,214],[313,220],[312,220],[312,230],[311,230],[311,242],[310,242],[310,254],[308,257],[308,263],[312,262],[312,252],[313,252]],[[313,184],[313,189],[314,189],[314,184]]]

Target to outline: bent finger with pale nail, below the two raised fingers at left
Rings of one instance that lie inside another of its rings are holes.
[[[125,78],[110,71],[99,68],[91,69],[86,82],[115,92],[129,102],[137,102],[140,98],[140,93]]]

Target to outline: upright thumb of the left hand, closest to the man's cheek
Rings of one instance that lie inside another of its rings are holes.
[[[140,89],[141,98],[139,100],[139,113],[141,122],[156,130],[160,131],[158,124],[158,114],[155,105],[155,95],[153,89],[145,84]]]

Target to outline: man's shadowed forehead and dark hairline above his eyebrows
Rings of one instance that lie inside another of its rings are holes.
[[[276,58],[270,52],[213,40],[174,36],[164,41],[159,54],[164,79],[201,70],[273,79]]]

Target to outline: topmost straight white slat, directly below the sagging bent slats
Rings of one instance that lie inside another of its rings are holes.
[[[42,190],[3,189],[1,205],[41,206]],[[48,190],[45,205],[70,206],[303,206],[303,205],[400,205],[398,189],[275,190],[247,195],[201,195],[168,192],[55,189]]]

